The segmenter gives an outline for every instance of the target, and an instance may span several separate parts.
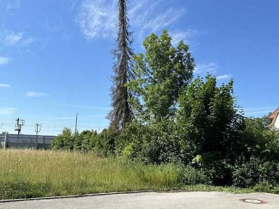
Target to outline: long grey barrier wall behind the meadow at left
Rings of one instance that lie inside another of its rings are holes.
[[[55,136],[0,134],[2,148],[48,148]]]

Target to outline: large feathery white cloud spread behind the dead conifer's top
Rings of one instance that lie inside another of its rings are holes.
[[[131,1],[129,20],[133,31],[156,32],[173,24],[185,10],[174,8],[169,0]],[[117,0],[84,0],[76,22],[86,39],[114,37],[117,23]]]

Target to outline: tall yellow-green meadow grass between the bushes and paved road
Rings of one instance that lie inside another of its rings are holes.
[[[176,165],[143,165],[92,153],[0,149],[0,199],[138,190],[252,192],[253,189],[183,185]],[[258,188],[260,188],[259,186]]]

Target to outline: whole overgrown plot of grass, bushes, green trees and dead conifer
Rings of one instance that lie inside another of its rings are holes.
[[[118,1],[110,127],[100,134],[65,128],[48,151],[1,150],[0,197],[171,188],[278,193],[279,131],[267,117],[243,116],[233,80],[193,79],[189,46],[172,45],[166,30],[134,54],[126,2]]]

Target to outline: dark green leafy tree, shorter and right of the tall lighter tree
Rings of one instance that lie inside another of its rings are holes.
[[[233,81],[216,86],[216,78],[197,78],[179,99],[178,124],[195,155],[233,154],[244,118],[233,96]]]

